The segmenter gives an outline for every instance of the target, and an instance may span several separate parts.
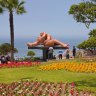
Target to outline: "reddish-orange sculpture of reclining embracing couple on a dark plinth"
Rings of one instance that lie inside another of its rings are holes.
[[[35,42],[27,43],[28,47],[35,47],[37,45],[44,45],[45,47],[61,45],[61,47],[64,47],[66,49],[69,48],[68,44],[65,44],[56,39],[53,39],[52,36],[50,34],[47,34],[46,32],[41,32],[40,36],[37,38]]]

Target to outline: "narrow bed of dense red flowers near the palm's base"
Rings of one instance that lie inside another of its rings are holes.
[[[40,62],[10,62],[8,64],[0,64],[0,68],[18,68],[18,67],[30,67],[37,66]]]

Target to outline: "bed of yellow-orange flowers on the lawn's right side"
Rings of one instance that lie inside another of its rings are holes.
[[[51,63],[49,65],[42,65],[40,70],[68,70],[72,72],[96,72],[96,62],[91,63],[77,63],[77,62],[64,62],[64,63]]]

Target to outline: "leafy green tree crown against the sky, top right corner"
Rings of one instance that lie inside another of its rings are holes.
[[[69,14],[73,15],[77,22],[82,22],[89,28],[90,23],[96,22],[96,0],[73,4],[69,9]]]

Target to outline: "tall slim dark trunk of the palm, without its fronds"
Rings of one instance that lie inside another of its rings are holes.
[[[14,25],[13,25],[13,12],[9,13],[10,22],[10,39],[11,39],[11,61],[14,61]]]

